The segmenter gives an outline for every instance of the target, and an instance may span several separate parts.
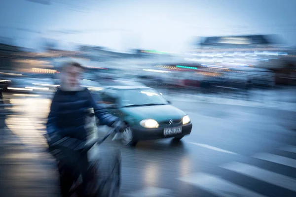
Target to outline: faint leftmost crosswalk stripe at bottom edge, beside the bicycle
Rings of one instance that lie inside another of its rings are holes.
[[[172,197],[172,191],[164,188],[148,187],[143,190],[126,193],[125,197]]]

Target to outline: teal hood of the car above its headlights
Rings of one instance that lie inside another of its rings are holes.
[[[154,119],[157,122],[167,121],[170,119],[182,119],[186,114],[181,109],[172,105],[152,105],[138,107],[123,107],[121,108],[125,116],[133,118],[135,121],[143,119]]]

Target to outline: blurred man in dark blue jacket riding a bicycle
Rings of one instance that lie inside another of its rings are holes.
[[[119,118],[112,116],[105,108],[97,105],[88,89],[79,84],[83,67],[78,63],[67,63],[61,72],[61,87],[55,93],[47,121],[47,140],[49,147],[55,143],[66,147],[65,150],[83,150],[89,142],[89,133],[85,127],[85,118],[90,111],[100,120],[102,125],[114,127],[119,131],[123,123]],[[59,161],[60,184],[63,196],[79,174],[87,179],[87,154],[78,154],[74,159],[71,151],[68,154],[63,150],[52,152]]]

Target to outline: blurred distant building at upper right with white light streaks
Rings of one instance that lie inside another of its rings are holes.
[[[287,56],[289,49],[272,35],[205,37],[187,60],[205,66],[270,68],[279,66],[273,60]]]

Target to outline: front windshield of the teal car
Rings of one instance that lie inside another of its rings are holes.
[[[141,105],[162,105],[168,104],[168,102],[153,89],[135,89],[122,91],[121,104],[123,107],[127,107]]]

